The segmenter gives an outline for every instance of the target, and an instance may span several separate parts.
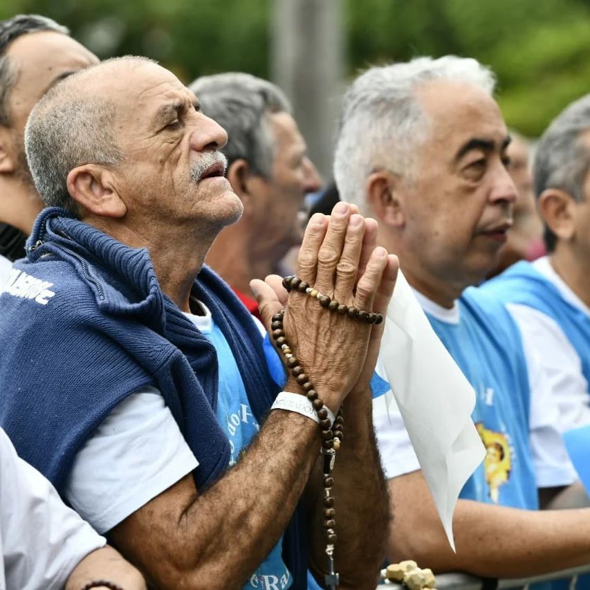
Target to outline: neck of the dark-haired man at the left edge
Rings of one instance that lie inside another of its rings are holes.
[[[0,177],[0,221],[30,235],[42,208],[39,195],[24,181]]]

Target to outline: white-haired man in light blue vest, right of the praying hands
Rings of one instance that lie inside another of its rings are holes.
[[[506,170],[510,138],[493,86],[490,71],[473,59],[369,69],[344,98],[334,171],[342,199],[378,219],[380,243],[399,255],[432,326],[472,383],[473,418],[488,448],[455,510],[453,553],[400,418],[377,412],[396,507],[390,557],[498,577],[588,561],[590,511],[531,511],[537,487],[555,499],[578,489],[571,488],[576,475],[552,427],[540,369],[527,371],[517,327],[503,306],[465,291],[493,266],[515,200]]]

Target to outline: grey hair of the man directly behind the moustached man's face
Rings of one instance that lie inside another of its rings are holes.
[[[267,80],[239,72],[203,76],[189,88],[199,98],[203,113],[228,132],[228,144],[222,149],[228,165],[243,158],[254,174],[269,178],[275,137],[268,115],[291,113],[283,91]]]

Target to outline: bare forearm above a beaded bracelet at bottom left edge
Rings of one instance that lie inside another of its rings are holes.
[[[139,571],[109,546],[89,553],[77,564],[68,578],[66,590],[80,590],[98,580],[107,580],[125,590],[145,590]]]

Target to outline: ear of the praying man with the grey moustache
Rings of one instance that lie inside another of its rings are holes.
[[[118,194],[112,172],[95,164],[78,166],[68,174],[68,192],[89,212],[102,217],[122,217],[127,205]]]

